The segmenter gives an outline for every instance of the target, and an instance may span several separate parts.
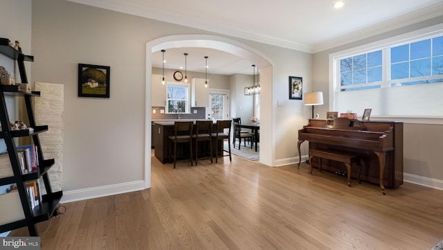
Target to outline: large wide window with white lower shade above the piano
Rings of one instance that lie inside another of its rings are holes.
[[[352,110],[359,118],[366,108],[373,117],[442,118],[443,25],[439,28],[329,55],[329,110]]]

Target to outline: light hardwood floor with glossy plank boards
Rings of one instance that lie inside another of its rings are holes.
[[[386,195],[302,164],[233,156],[161,165],[152,188],[63,204],[42,249],[431,249],[443,238],[443,191],[405,183]]]

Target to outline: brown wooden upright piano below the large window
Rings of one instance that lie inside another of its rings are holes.
[[[298,130],[298,166],[300,145],[309,141],[309,149],[338,150],[358,154],[363,160],[360,179],[384,187],[397,188],[403,184],[403,123],[395,121],[366,121],[336,118],[309,119]],[[319,161],[311,164],[318,167]],[[342,163],[322,161],[322,169],[335,172]],[[356,172],[352,172],[356,177]]]

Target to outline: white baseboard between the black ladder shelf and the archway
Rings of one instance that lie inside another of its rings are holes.
[[[84,188],[63,192],[60,203],[76,202],[83,199],[92,199],[108,195],[117,195],[120,193],[129,193],[145,189],[145,181],[132,181],[123,184],[114,184],[108,186],[99,186],[94,188]]]

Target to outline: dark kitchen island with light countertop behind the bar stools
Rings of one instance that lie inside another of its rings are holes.
[[[174,122],[176,120],[153,120],[154,130],[152,132],[152,136],[154,138],[154,156],[159,159],[161,163],[169,163],[170,162],[170,140],[168,136],[174,135]],[[177,121],[190,121],[188,119],[181,119]],[[192,120],[195,121],[196,120]],[[195,133],[196,127],[194,127]],[[213,123],[213,132],[217,130],[217,123]],[[214,143],[214,142],[213,142]],[[195,145],[192,145],[195,147]],[[201,148],[200,148],[201,147]],[[219,144],[219,148],[222,149],[222,144]],[[215,149],[215,144],[213,144],[213,149]],[[177,144],[177,159],[189,159],[189,147],[186,143],[178,143]],[[194,150],[194,149],[193,149]],[[199,143],[199,152],[206,152],[206,148],[204,147],[204,143]],[[221,150],[219,150],[220,154]],[[213,152],[213,156],[215,156],[215,152]],[[195,157],[195,156],[194,156]],[[200,156],[199,156],[200,157]]]

